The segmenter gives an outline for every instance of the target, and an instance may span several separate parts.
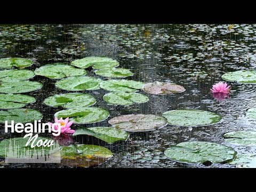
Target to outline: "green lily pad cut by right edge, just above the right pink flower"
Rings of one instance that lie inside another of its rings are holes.
[[[222,79],[238,83],[256,83],[256,70],[239,70],[228,72],[221,76]]]

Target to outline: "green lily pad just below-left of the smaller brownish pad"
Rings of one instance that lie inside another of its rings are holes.
[[[140,93],[115,92],[105,94],[103,100],[110,104],[132,105],[134,103],[147,102],[149,98]]]

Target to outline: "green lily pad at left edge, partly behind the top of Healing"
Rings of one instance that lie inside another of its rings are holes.
[[[0,123],[11,124],[11,121],[15,123],[29,123],[35,120],[42,119],[43,115],[34,109],[10,109],[0,110]]]

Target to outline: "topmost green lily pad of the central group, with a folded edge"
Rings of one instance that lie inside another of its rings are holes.
[[[93,69],[110,69],[119,66],[117,60],[106,57],[86,57],[72,61],[70,64],[83,69],[91,66]]]

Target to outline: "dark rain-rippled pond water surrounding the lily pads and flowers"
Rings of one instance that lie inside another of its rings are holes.
[[[110,126],[110,118],[126,114],[157,114],[173,109],[200,109],[220,114],[220,123],[200,127],[167,125],[162,129],[131,133],[130,139],[107,145],[86,137],[79,143],[96,143],[110,149],[114,156],[94,167],[236,167],[223,163],[182,164],[168,159],[164,150],[184,141],[209,141],[233,147],[238,154],[256,154],[255,147],[233,146],[223,134],[230,131],[254,130],[256,121],[245,111],[256,106],[256,85],[230,83],[228,98],[218,100],[210,88],[221,81],[228,71],[255,69],[256,25],[1,25],[0,58],[22,57],[34,61],[28,69],[47,63],[70,63],[88,56],[117,59],[120,67],[130,69],[141,82],[171,82],[186,91],[177,94],[148,94],[146,103],[131,106],[107,105],[105,90],[86,91],[97,99],[94,106],[106,108],[110,117],[85,127]],[[87,70],[87,75],[106,79]],[[67,93],[54,86],[55,80],[35,76],[31,81],[43,83],[43,88],[29,92],[36,102],[28,105],[41,111],[43,122],[52,122],[62,108],[43,105],[54,94]],[[141,91],[142,92],[142,91]],[[0,139],[10,138],[0,125]],[[75,126],[74,126],[75,127]],[[3,160],[3,159],[2,159]],[[5,164],[4,167],[65,167],[59,164]]]

